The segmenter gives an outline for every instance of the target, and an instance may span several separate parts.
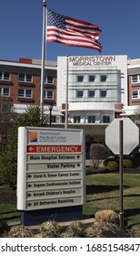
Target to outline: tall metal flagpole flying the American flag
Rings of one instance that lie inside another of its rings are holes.
[[[43,117],[43,114],[44,114],[45,19],[46,19],[46,0],[43,0],[43,38],[42,38],[42,65],[41,65],[41,88],[40,88],[41,117]]]

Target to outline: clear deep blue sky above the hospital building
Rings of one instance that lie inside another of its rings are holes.
[[[102,29],[102,53],[89,48],[46,44],[45,59],[77,55],[127,55],[140,58],[139,0],[47,0],[53,11],[94,23]],[[0,59],[41,59],[43,0],[0,0]]]

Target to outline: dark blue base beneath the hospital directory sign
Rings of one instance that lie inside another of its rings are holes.
[[[83,219],[83,207],[48,208],[40,210],[22,211],[21,225],[39,225],[48,220],[58,222]]]

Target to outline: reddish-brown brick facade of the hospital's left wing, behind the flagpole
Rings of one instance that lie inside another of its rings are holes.
[[[9,80],[0,79],[1,96],[4,89],[9,90],[9,97],[13,104],[39,104],[40,103],[40,87],[41,87],[41,65],[33,64],[32,59],[19,59],[18,62],[0,61],[0,71],[3,75],[9,73]],[[32,81],[20,81],[19,74],[29,74]],[[48,105],[50,101],[56,105],[56,68],[54,66],[45,66],[45,75],[53,77],[52,83],[45,83],[44,91],[50,91],[53,97],[45,99],[44,104]],[[20,97],[18,91],[31,91],[32,97]]]

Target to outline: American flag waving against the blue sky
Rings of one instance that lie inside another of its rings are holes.
[[[47,9],[47,42],[101,51],[102,46],[98,41],[100,33],[99,27],[94,24],[62,16]]]

